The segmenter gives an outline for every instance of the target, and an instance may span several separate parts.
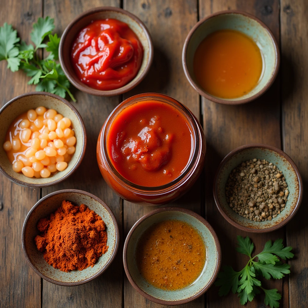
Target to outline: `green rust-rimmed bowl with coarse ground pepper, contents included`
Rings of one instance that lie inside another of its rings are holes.
[[[302,201],[302,178],[285,152],[264,144],[234,149],[219,165],[213,185],[221,215],[246,232],[286,225]]]

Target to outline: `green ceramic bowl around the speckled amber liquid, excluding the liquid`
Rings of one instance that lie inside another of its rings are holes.
[[[190,286],[175,291],[158,289],[147,282],[138,270],[135,257],[138,241],[144,231],[154,223],[169,219],[192,225],[198,230],[206,247],[205,266],[200,276]],[[142,296],[162,305],[180,305],[198,298],[213,284],[220,268],[221,249],[215,231],[204,218],[187,209],[166,207],[144,215],[133,225],[124,243],[123,263],[129,282]]]

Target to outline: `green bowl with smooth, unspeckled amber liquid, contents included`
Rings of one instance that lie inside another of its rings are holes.
[[[200,95],[236,105],[267,91],[277,76],[280,56],[274,35],[261,20],[230,10],[209,15],[192,28],[182,64]]]

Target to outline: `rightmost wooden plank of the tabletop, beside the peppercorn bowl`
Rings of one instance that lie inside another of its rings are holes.
[[[297,164],[304,182],[304,198],[287,225],[287,243],[295,247],[290,260],[290,307],[308,307],[308,2],[281,3],[283,149]]]

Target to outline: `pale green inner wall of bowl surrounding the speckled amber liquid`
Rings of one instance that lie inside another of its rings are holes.
[[[148,283],[140,274],[135,257],[138,241],[144,231],[154,223],[169,219],[185,221],[186,223],[192,225],[199,232],[206,246],[206,262],[201,275],[195,282],[193,282],[192,285],[174,291],[158,289]],[[214,274],[219,270],[220,258],[218,256],[218,251],[220,253],[220,247],[217,247],[215,238],[210,230],[200,220],[188,213],[175,210],[166,210],[149,216],[133,231],[127,245],[127,267],[133,281],[144,293],[162,301],[170,301],[168,304],[172,305],[172,302],[191,298],[197,295],[206,286],[209,287],[209,284],[214,280]]]

